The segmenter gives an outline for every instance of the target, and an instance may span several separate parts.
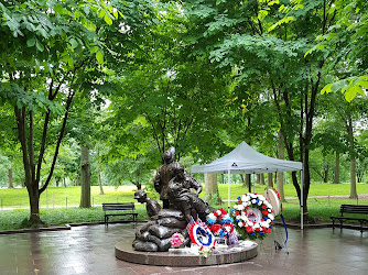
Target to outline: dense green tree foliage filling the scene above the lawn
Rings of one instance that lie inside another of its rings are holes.
[[[31,169],[42,191],[78,185],[80,145],[93,185],[138,186],[169,146],[190,170],[241,141],[303,161],[310,196],[311,183],[351,183],[354,198],[368,182],[365,0],[25,0],[0,12],[1,187],[31,186]],[[300,195],[299,176],[288,183]]]

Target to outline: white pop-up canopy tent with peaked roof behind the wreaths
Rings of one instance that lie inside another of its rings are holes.
[[[301,172],[301,183],[303,183],[303,164],[301,162],[273,158],[257,152],[246,142],[241,142],[230,153],[209,164],[193,165],[191,172],[228,174],[228,207],[230,208],[230,174],[261,174],[294,170]],[[301,229],[303,229],[303,188],[301,188]]]

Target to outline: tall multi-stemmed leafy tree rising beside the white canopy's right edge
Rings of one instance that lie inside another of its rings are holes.
[[[273,95],[289,160],[304,163],[303,204],[307,218],[310,144],[320,85],[329,52],[305,54],[327,35],[336,18],[333,0],[185,1],[193,21],[192,53],[209,52],[218,69],[236,68],[238,79]],[[234,70],[232,70],[234,72]],[[292,182],[301,199],[296,173]]]

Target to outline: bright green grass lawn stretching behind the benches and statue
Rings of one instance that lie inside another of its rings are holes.
[[[223,199],[227,199],[228,186],[219,185],[219,194]],[[133,201],[134,186],[122,186],[119,188],[104,186],[105,195],[99,195],[99,187],[91,187],[91,202],[94,207],[90,209],[80,209],[78,207],[80,199],[80,187],[48,187],[47,193],[43,193],[41,196],[41,219],[46,224],[52,226],[65,226],[67,223],[78,222],[94,222],[104,221],[104,211],[99,205],[102,202],[129,202]],[[262,194],[264,186],[256,185],[256,191]],[[348,184],[312,184],[309,197],[309,213],[310,217],[322,220],[331,221],[332,215],[339,215],[339,206],[342,204],[349,205],[368,205],[368,199],[355,199],[348,198],[311,198],[311,196],[328,196],[328,195],[349,195],[350,186]],[[230,186],[230,199],[236,198],[248,189],[240,184],[231,184]],[[368,194],[367,184],[357,184],[358,194]],[[285,197],[296,197],[294,187],[289,184],[284,186]],[[203,191],[204,194],[204,191]],[[150,197],[158,199],[158,195],[152,193]],[[1,209],[3,208],[26,208],[29,207],[29,198],[25,188],[22,189],[0,189],[0,199],[2,201]],[[67,205],[66,205],[67,204]],[[231,201],[230,206],[234,206],[235,201]],[[58,206],[58,207],[56,207]],[[139,212],[139,219],[148,219],[144,205],[136,204],[137,211]],[[223,207],[227,209],[227,202],[221,206],[213,206],[214,208]],[[0,230],[14,230],[22,229],[23,221],[30,216],[29,209],[15,209],[15,210],[0,210]],[[297,199],[288,199],[283,202],[283,216],[286,220],[300,221],[300,207]],[[115,217],[111,220],[128,219],[128,217]]]

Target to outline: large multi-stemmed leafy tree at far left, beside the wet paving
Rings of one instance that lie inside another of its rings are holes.
[[[125,10],[128,16],[122,19],[121,11],[100,0],[26,0],[0,4],[3,48],[0,97],[13,107],[17,119],[30,197],[30,224],[42,223],[40,195],[53,176],[73,98],[82,86],[85,89],[90,85],[86,81],[87,68],[101,69],[104,54],[107,56],[105,51],[110,42],[107,34],[111,34],[107,26],[113,20],[120,24],[134,23],[130,20],[138,16],[137,9],[139,4]],[[130,29],[134,30],[134,25]],[[120,26],[115,24],[115,33],[118,30]],[[99,72],[105,75],[107,70]],[[54,127],[58,128],[57,134],[51,131]],[[53,162],[40,186],[44,154],[51,143],[56,144]]]

